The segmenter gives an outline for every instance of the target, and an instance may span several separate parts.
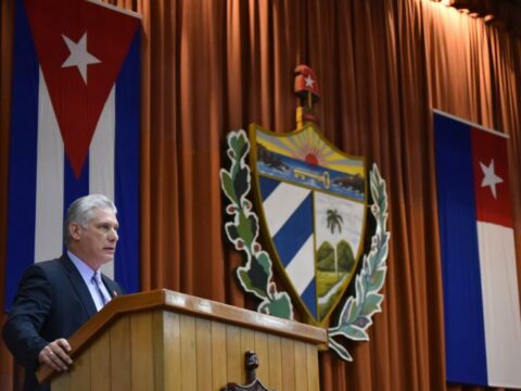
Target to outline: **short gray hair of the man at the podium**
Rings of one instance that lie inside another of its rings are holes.
[[[93,211],[96,209],[110,209],[117,213],[116,205],[114,202],[106,195],[103,194],[89,194],[85,197],[80,197],[76,201],[74,201],[67,210],[67,216],[65,217],[65,222],[63,224],[63,240],[65,245],[72,240],[71,232],[68,227],[71,224],[76,223],[79,224],[81,227],[87,227],[87,224],[93,218]]]

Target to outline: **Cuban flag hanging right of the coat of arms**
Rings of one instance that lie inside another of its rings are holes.
[[[521,387],[507,138],[434,113],[447,381]]]

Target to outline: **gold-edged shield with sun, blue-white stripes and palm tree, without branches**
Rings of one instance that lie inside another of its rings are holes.
[[[364,157],[331,146],[315,124],[276,134],[252,125],[260,218],[283,275],[322,325],[355,275],[367,211]]]

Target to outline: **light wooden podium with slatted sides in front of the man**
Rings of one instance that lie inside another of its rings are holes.
[[[323,329],[168,290],[114,299],[68,339],[66,373],[41,366],[52,391],[217,391],[244,384],[244,353],[269,390],[319,390]]]

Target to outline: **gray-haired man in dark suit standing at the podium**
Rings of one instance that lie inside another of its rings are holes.
[[[76,200],[64,223],[66,253],[25,272],[3,328],[5,344],[25,367],[24,391],[49,390],[49,384],[38,384],[38,365],[67,370],[73,364],[67,338],[111,298],[122,294],[117,282],[104,275],[100,280],[99,272],[114,258],[116,212],[101,194]]]

